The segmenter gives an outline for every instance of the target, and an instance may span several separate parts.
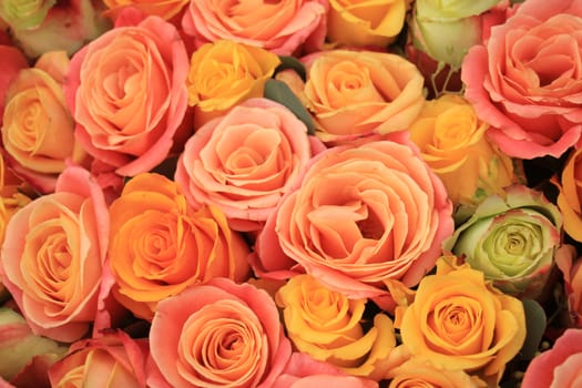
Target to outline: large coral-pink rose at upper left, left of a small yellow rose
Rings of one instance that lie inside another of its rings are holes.
[[[187,54],[176,29],[161,18],[121,22],[74,54],[65,96],[82,146],[133,176],[160,164],[178,135]]]

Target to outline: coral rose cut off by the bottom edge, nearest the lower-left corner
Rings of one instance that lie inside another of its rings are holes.
[[[51,387],[143,387],[149,349],[144,339],[121,330],[71,345],[49,369]]]

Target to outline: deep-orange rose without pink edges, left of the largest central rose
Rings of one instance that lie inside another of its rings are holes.
[[[180,186],[143,173],[110,206],[113,295],[151,320],[157,303],[216,276],[248,277],[248,246],[216,207],[195,211]]]

